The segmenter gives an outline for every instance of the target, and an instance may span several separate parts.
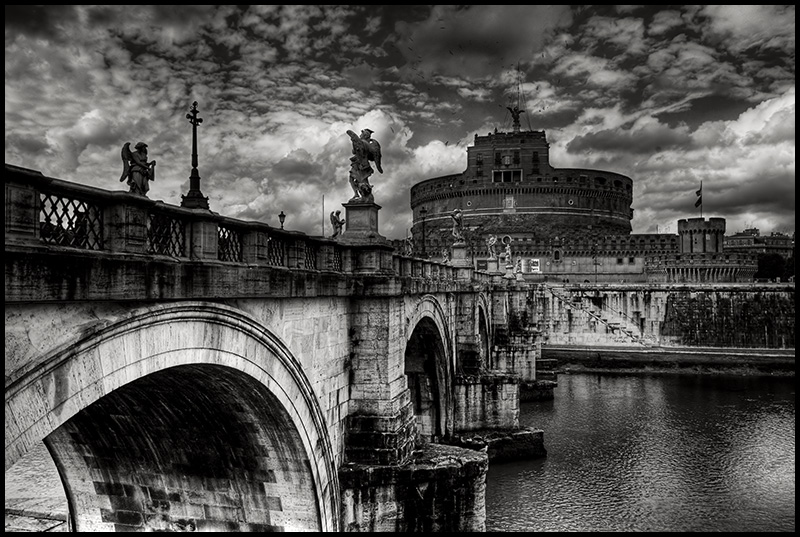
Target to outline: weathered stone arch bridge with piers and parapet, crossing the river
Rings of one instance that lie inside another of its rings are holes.
[[[484,529],[487,455],[459,446],[520,432],[523,286],[5,181],[5,465],[43,441],[73,529]]]

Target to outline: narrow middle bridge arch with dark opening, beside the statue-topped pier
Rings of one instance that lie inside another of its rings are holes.
[[[424,295],[407,317],[404,372],[423,441],[453,432],[454,352],[439,300]]]

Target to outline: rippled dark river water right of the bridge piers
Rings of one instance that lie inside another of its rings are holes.
[[[560,375],[545,459],[492,464],[489,531],[794,531],[794,378]]]

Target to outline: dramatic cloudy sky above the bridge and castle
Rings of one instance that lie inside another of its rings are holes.
[[[5,161],[120,189],[149,145],[179,204],[198,101],[202,191],[226,216],[320,234],[375,131],[381,233],[475,133],[546,130],[551,164],[634,180],[635,233],[728,219],[794,232],[794,6],[6,6]]]

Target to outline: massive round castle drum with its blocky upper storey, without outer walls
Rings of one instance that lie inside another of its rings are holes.
[[[549,150],[544,131],[475,135],[463,173],[411,188],[417,254],[438,255],[452,244],[455,209],[478,258],[489,235],[512,242],[629,235],[633,181],[607,171],[553,168]]]

